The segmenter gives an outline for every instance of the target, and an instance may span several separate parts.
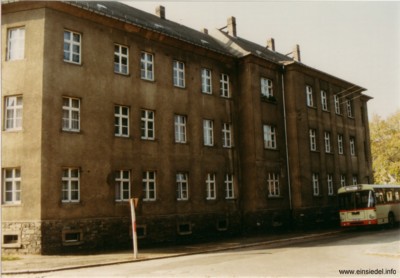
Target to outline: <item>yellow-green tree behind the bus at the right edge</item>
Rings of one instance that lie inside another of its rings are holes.
[[[400,183],[400,110],[386,120],[370,122],[372,168],[375,183]]]

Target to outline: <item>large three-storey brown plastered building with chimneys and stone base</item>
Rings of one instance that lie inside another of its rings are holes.
[[[118,2],[2,4],[2,248],[62,253],[336,223],[370,183],[360,86]]]

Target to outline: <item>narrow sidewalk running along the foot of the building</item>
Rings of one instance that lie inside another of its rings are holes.
[[[137,259],[133,258],[133,251],[131,250],[91,255],[17,255],[19,258],[18,260],[2,262],[2,274],[33,274],[83,267],[140,262],[167,257],[224,251],[262,244],[307,240],[321,236],[334,235],[340,233],[341,231],[342,230],[340,229],[332,229],[310,232],[288,232],[280,235],[238,237],[218,242],[169,246],[162,248],[140,249],[139,247]]]

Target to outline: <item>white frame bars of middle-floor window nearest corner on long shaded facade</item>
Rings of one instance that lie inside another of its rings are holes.
[[[63,110],[63,115],[62,115],[62,130],[63,131],[68,131],[68,132],[80,132],[81,130],[81,100],[79,98],[74,98],[74,97],[67,97],[63,96],[63,103],[62,103],[62,110]],[[64,101],[68,100],[68,106],[65,106]],[[74,107],[73,103],[74,101],[77,102],[78,107]],[[65,118],[65,112],[68,113],[67,118]],[[74,119],[74,116],[76,117]],[[67,123],[67,126],[65,125]],[[77,127],[74,127],[73,123],[76,123]]]

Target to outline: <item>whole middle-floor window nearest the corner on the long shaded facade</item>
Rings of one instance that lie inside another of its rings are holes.
[[[80,100],[63,97],[62,130],[78,132],[80,130]]]

